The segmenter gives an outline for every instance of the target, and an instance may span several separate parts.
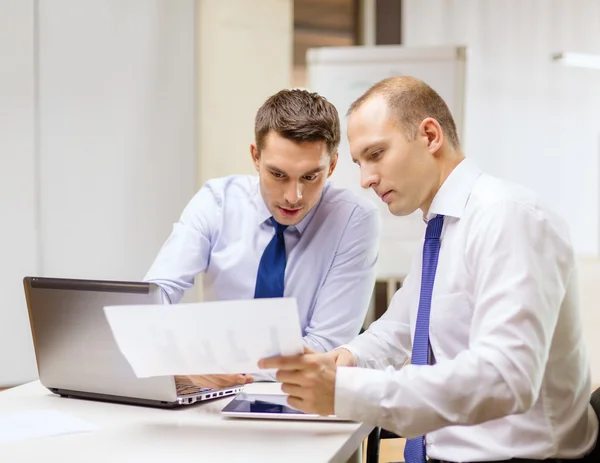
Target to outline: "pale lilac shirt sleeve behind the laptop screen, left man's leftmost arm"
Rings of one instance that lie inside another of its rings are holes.
[[[196,275],[208,266],[213,230],[221,215],[220,204],[205,185],[187,204],[171,235],[144,277],[158,284],[166,302],[175,304],[194,286]]]

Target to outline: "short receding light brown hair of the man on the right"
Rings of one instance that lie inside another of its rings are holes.
[[[348,110],[348,115],[374,96],[385,98],[392,117],[400,124],[407,137],[414,140],[421,122],[432,117],[442,127],[450,144],[460,147],[456,123],[446,102],[425,82],[414,77],[389,77],[377,82],[358,98]]]

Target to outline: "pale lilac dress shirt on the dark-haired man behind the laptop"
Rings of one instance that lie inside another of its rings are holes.
[[[204,272],[204,299],[252,299],[258,264],[274,236],[256,176],[211,180],[183,211],[145,280],[171,303]],[[319,203],[284,232],[284,297],[295,297],[305,344],[319,352],[359,332],[375,283],[376,206],[326,184]]]

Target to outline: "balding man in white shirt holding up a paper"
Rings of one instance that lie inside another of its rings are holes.
[[[279,369],[294,407],[407,437],[407,463],[589,454],[598,419],[566,223],[466,159],[448,107],[424,82],[384,80],[349,113],[362,186],[394,215],[420,209],[423,246],[365,333],[261,368]]]

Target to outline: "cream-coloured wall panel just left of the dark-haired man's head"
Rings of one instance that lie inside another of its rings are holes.
[[[292,0],[198,1],[200,183],[255,173],[254,116],[291,82]]]

